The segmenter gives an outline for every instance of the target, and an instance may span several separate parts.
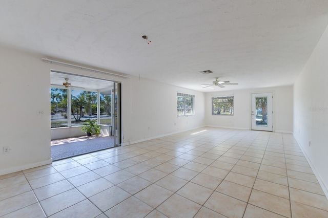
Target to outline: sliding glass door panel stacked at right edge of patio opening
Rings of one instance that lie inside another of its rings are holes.
[[[112,132],[114,136],[114,146],[121,145],[121,84],[114,82],[112,108]]]

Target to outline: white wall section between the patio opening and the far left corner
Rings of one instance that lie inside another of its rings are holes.
[[[142,78],[131,82],[128,144],[204,125],[204,93]],[[177,117],[177,92],[195,95],[195,116]]]

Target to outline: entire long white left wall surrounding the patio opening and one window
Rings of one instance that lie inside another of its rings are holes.
[[[203,126],[203,93],[50,64],[43,57],[0,47],[0,175],[51,163],[51,69],[121,82],[124,144]],[[196,116],[176,117],[177,91],[196,95]],[[10,154],[3,154],[5,146]]]

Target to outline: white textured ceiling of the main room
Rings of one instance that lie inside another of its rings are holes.
[[[239,83],[216,91],[293,84],[328,1],[5,0],[0,24],[6,47],[211,92],[216,76]]]

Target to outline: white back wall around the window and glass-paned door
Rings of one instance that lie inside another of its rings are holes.
[[[206,125],[238,129],[251,129],[251,94],[273,93],[273,126],[275,132],[293,131],[293,87],[281,86],[265,89],[220,91],[206,95]],[[234,96],[234,115],[212,115],[212,97]]]

